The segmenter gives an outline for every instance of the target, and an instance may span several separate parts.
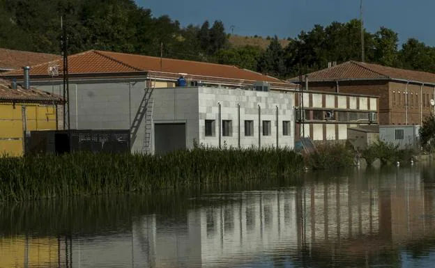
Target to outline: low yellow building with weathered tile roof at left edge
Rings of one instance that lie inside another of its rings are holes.
[[[61,105],[58,95],[0,79],[0,156],[22,155],[26,131],[56,129]]]

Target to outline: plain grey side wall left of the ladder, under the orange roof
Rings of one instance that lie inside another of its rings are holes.
[[[59,84],[39,83],[40,90],[62,95]],[[146,82],[99,81],[70,83],[70,126],[72,129],[130,129],[145,93]],[[142,150],[145,122],[139,124],[132,152]]]

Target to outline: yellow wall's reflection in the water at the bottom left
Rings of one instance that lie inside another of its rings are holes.
[[[26,255],[26,256],[25,256]],[[56,238],[0,238],[0,268],[25,267],[25,258],[29,267],[48,267],[59,260]]]

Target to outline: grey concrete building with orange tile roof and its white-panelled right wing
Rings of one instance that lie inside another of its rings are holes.
[[[62,94],[61,63],[33,66],[31,84]],[[230,65],[92,50],[69,56],[68,67],[70,127],[130,129],[133,152],[192,148],[194,141],[292,148],[304,134],[345,141],[348,127],[377,123],[374,95],[310,90],[302,102],[296,84]],[[21,70],[2,75],[22,79]],[[178,88],[181,76],[186,86]],[[295,109],[303,109],[303,120]],[[161,134],[169,131],[178,134]]]

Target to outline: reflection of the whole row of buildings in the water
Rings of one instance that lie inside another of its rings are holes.
[[[0,267],[224,267],[265,256],[314,267],[386,258],[400,267],[400,245],[435,237],[432,182],[420,174],[356,170],[333,182],[206,195],[181,216],[135,216],[130,230],[69,242],[3,237]]]

